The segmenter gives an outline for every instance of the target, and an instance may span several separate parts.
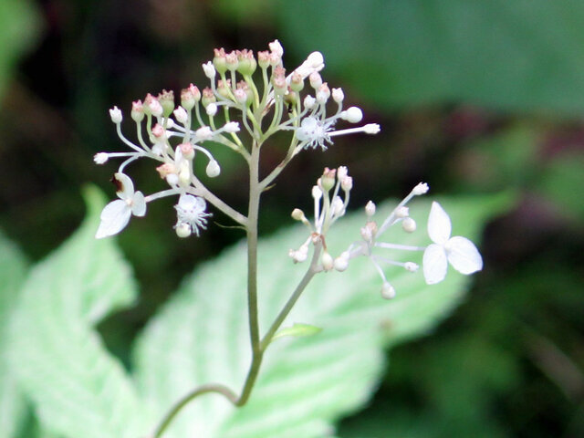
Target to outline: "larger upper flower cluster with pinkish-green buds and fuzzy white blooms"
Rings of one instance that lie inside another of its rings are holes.
[[[331,90],[327,82],[323,82],[319,72],[324,68],[324,58],[319,52],[310,54],[288,74],[283,55],[284,49],[277,40],[269,44],[269,50],[258,52],[257,57],[246,49],[232,52],[215,49],[213,60],[203,64],[204,75],[210,84],[202,91],[191,84],[181,91],[179,105],[175,104],[172,91],[166,90],[158,96],[148,94],[145,99],[132,103],[130,117],[136,125],[135,141],[130,141],[122,133],[121,110],[113,107],[111,121],[129,151],[99,152],[94,157],[98,164],[111,158],[123,159],[114,176],[114,181],[123,186],[118,192],[120,200],[104,209],[96,236],[119,233],[129,223],[131,215],[143,216],[146,213],[147,203],[171,195],[179,197],[175,206],[175,230],[181,237],[199,235],[200,229],[205,228],[210,215],[206,213],[207,202],[243,224],[245,216],[237,214],[210,193],[200,175],[193,172],[193,162],[201,157],[206,160],[207,177],[220,174],[221,167],[214,159],[209,148],[211,145],[235,151],[249,163],[253,160],[254,148],[259,150],[276,131],[292,131],[294,135],[287,158],[270,174],[271,180],[304,149],[320,148],[324,151],[335,136],[379,132],[377,124],[335,130],[339,120],[359,123],[361,110],[357,107],[344,110],[343,91]],[[254,79],[254,76],[258,78]],[[302,97],[307,81],[312,91],[304,92]],[[240,137],[243,133],[251,139],[247,146]],[[158,162],[156,171],[168,184],[165,190],[148,196],[133,192],[133,183],[125,170],[139,158]],[[138,196],[140,201],[129,193]],[[122,207],[121,202],[125,206]],[[135,205],[140,205],[140,208]]]

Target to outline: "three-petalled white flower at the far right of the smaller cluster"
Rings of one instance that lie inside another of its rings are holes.
[[[458,272],[469,275],[483,268],[483,258],[466,237],[451,237],[450,217],[439,203],[433,202],[428,217],[428,235],[433,244],[423,253],[423,276],[426,283],[440,283],[446,276],[448,263]]]

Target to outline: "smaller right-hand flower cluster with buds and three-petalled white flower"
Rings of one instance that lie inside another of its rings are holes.
[[[333,258],[328,254],[326,245],[324,245],[324,237],[328,232],[329,226],[340,215],[345,214],[347,204],[349,203],[350,187],[352,187],[352,179],[347,176],[346,167],[339,167],[337,174],[338,182],[331,197],[329,196],[329,191],[334,183],[335,171],[330,171],[328,168],[325,169],[323,176],[318,179],[318,185],[312,189],[312,196],[315,199],[314,225],[308,222],[308,219],[306,219],[302,211],[295,209],[292,212],[292,217],[307,224],[310,230],[308,240],[299,249],[289,251],[289,255],[294,262],[303,262],[308,258],[308,245],[311,242],[313,244],[318,242],[323,243],[323,254],[321,255],[318,268],[325,271],[332,269],[344,271],[349,266],[351,259],[358,256],[366,256],[381,276],[381,296],[385,298],[394,297],[395,289],[387,280],[381,267],[382,264],[401,266],[411,272],[418,271],[420,266],[412,261],[401,262],[388,258],[385,255],[378,255],[377,253],[383,249],[423,251],[422,272],[426,283],[429,285],[443,281],[449,263],[454,269],[464,275],[473,274],[483,268],[483,259],[476,246],[470,240],[460,235],[451,237],[452,224],[450,217],[443,210],[442,206],[436,202],[432,203],[428,217],[428,235],[433,242],[432,244],[428,246],[413,246],[381,241],[382,235],[391,226],[396,224],[401,224],[402,230],[406,233],[416,231],[417,225],[415,220],[410,216],[407,203],[415,196],[420,196],[428,192],[429,187],[426,183],[416,185],[412,192],[391,211],[391,214],[385,218],[381,225],[378,225],[373,220],[373,216],[376,213],[375,204],[371,201],[367,203],[365,206],[367,221],[360,229],[361,240],[352,243],[339,256]],[[327,181],[327,183],[323,183],[324,181]],[[343,189],[345,191],[345,198],[341,200],[338,193],[339,186],[343,187],[343,185],[346,186],[347,190]],[[324,199],[322,212],[319,210],[320,198]]]

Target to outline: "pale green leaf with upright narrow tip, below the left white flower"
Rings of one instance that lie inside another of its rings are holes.
[[[112,239],[96,240],[103,196],[86,191],[88,217],[34,266],[10,327],[10,356],[48,432],[78,438],[137,438],[141,405],[95,325],[130,305],[136,287]]]

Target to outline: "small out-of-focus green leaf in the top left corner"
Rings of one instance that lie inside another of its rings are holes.
[[[29,0],[0,2],[0,96],[18,57],[36,40],[40,27],[36,6]]]

